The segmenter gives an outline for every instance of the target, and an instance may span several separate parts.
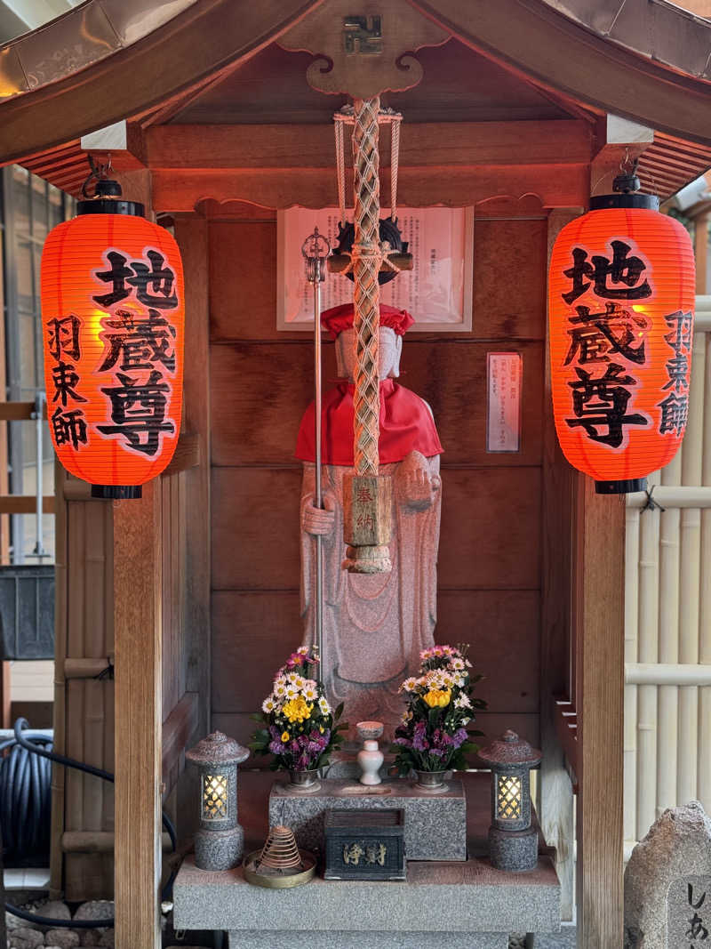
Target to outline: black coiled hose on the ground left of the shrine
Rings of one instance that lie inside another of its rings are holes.
[[[11,748],[9,755],[0,759],[0,827],[3,845],[7,853],[23,856],[28,853],[46,853],[49,849],[52,761],[114,783],[114,775],[111,772],[85,765],[82,761],[52,751],[50,738],[37,737],[28,740],[22,734],[27,728],[27,718],[18,718],[15,722],[14,737],[0,743],[0,752]],[[162,817],[163,827],[171,838],[174,853],[177,847],[175,828],[168,814],[163,812]],[[163,887],[161,900],[170,899],[176,874],[177,869],[173,869]],[[5,908],[13,916],[40,925],[67,926],[72,929],[94,929],[114,925],[113,920],[50,920],[35,913],[28,913],[27,910],[9,902],[5,904]]]

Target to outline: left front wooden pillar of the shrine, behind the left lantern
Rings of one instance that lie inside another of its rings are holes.
[[[151,209],[147,171],[120,177]],[[162,482],[114,501],[116,949],[160,949]]]

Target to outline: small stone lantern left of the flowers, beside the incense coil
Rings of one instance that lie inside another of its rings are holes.
[[[185,756],[200,775],[195,865],[201,870],[229,870],[242,859],[245,843],[245,831],[237,823],[237,765],[249,752],[233,738],[213,732]]]

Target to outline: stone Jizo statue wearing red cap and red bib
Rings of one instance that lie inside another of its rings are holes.
[[[301,616],[304,644],[314,635],[315,537],[324,565],[323,675],[329,698],[345,703],[344,717],[377,718],[386,736],[403,712],[401,681],[414,675],[422,649],[433,645],[437,602],[442,446],[425,400],[399,385],[403,335],[413,320],[380,307],[380,474],[392,476],[392,572],[364,575],[342,568],[343,475],[353,469],[353,393],[356,365],[352,305],[321,315],[336,340],[343,381],[322,405],[321,489],[325,510],[314,506],[315,416],[312,403],[301,419],[297,456],[301,489]],[[355,736],[355,731],[354,731]]]

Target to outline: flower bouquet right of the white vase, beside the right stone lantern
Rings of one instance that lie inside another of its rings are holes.
[[[483,676],[472,676],[466,659],[468,646],[432,646],[420,653],[418,676],[400,686],[408,707],[395,729],[392,751],[400,774],[464,769],[465,756],[478,750],[469,739],[483,732],[467,730],[474,710],[486,708],[483,698],[472,698]]]

